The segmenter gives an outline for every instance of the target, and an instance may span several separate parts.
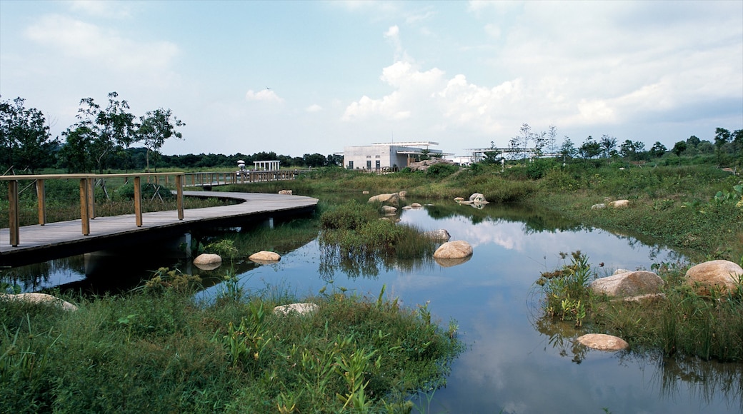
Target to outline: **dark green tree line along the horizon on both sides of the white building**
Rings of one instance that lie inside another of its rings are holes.
[[[118,93],[108,93],[108,104],[102,107],[93,98],[80,99],[77,122],[62,132],[62,139],[51,137],[48,119],[36,108],[26,108],[25,99],[0,99],[0,169],[2,174],[39,168],[63,169],[70,173],[103,173],[107,170],[150,171],[154,168],[236,168],[242,160],[279,160],[282,166],[317,168],[343,165],[337,154],[304,154],[302,157],[279,155],[275,152],[256,154],[186,154],[163,155],[160,148],[167,139],[183,139],[178,128],[184,122],[170,109],[158,108],[141,116],[129,112],[129,102],[119,100]],[[496,150],[494,142],[490,148]],[[535,131],[527,123],[508,144],[510,158],[554,157],[563,161],[581,158],[621,158],[647,161],[675,154],[677,157],[714,155],[718,165],[743,165],[743,130],[716,128],[714,142],[691,136],[669,150],[657,141],[646,149],[644,142],[603,135],[599,139],[585,138],[581,145],[564,137],[557,143],[557,128]],[[486,151],[484,162],[500,162],[500,151]]]

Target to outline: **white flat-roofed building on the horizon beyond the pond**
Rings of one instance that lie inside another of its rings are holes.
[[[380,142],[357,147],[343,147],[343,166],[349,170],[399,171],[428,154],[443,155],[429,149],[438,142]]]

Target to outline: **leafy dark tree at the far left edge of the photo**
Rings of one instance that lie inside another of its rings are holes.
[[[51,139],[42,111],[25,108],[25,99],[0,101],[0,165],[32,172],[53,164],[59,139]],[[0,171],[1,174],[2,171]]]

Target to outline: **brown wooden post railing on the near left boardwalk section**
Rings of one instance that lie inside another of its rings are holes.
[[[15,247],[20,242],[19,226],[19,181],[32,180],[36,182],[36,194],[38,198],[39,225],[46,224],[46,195],[44,183],[45,180],[80,180],[80,219],[82,221],[82,234],[90,234],[90,220],[95,218],[95,198],[94,198],[94,180],[111,178],[124,178],[134,180],[134,221],[137,227],[142,226],[142,177],[147,177],[147,181],[155,180],[159,183],[160,177],[165,178],[169,183],[169,177],[175,176],[176,188],[176,208],[178,210],[178,220],[184,219],[184,173],[141,173],[141,174],[41,174],[41,175],[12,175],[0,176],[0,181],[7,181],[7,198],[9,202],[8,217],[10,221],[10,245]]]

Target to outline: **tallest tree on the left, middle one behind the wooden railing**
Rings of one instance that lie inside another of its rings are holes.
[[[119,94],[116,92],[108,93],[108,107],[105,110],[93,98],[80,99],[80,109],[77,110],[80,126],[85,126],[94,134],[88,151],[99,173],[103,173],[107,157],[129,148],[136,137],[135,117],[127,112],[129,102],[118,101],[115,99],[117,96]]]

